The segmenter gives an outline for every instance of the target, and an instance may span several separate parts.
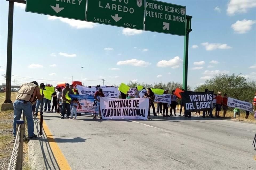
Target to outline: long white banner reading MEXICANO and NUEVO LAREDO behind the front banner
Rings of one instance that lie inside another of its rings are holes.
[[[87,96],[94,96],[95,92],[98,91],[100,88],[103,90],[103,94],[105,97],[115,97],[118,98],[119,90],[117,87],[100,87],[100,88],[88,88],[84,86],[77,85],[77,91],[79,95],[87,95]]]

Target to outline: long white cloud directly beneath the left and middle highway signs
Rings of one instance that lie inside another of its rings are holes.
[[[69,24],[71,27],[74,27],[76,29],[83,29],[83,28],[93,28],[97,24],[92,22],[86,22],[86,21],[80,21],[75,19],[69,19],[69,18],[60,18],[57,16],[47,16],[48,20],[56,20],[59,19],[61,22]]]

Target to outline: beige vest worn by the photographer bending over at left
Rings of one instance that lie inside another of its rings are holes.
[[[24,83],[21,85],[21,87],[19,88],[16,100],[25,100],[25,101],[30,101],[31,103],[34,102],[34,98],[35,98],[35,88],[37,87],[37,85],[35,85],[34,83]],[[34,96],[33,96],[34,94]]]

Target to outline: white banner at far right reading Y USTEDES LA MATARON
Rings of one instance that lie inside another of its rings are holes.
[[[231,97],[227,98],[227,106],[253,112],[253,104],[246,101],[233,99]]]

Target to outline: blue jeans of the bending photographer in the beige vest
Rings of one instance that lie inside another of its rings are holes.
[[[13,135],[16,135],[16,121],[21,119],[21,113],[25,114],[27,119],[27,133],[29,137],[34,135],[34,121],[32,116],[32,106],[30,102],[24,100],[15,100],[13,103],[14,118],[13,118]]]

